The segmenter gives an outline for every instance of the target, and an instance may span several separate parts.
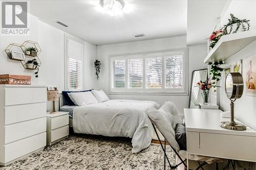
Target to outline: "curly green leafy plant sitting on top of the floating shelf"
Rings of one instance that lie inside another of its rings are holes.
[[[248,19],[238,19],[233,14],[230,14],[230,19],[228,19],[228,23],[226,25],[224,25],[223,28],[222,28],[223,33],[225,35],[230,34],[232,32],[232,29],[233,29],[232,25],[234,23],[237,23],[237,28],[232,33],[237,33],[241,26],[242,26],[242,31],[248,31],[250,29],[249,21],[250,20],[248,20]],[[227,32],[227,27],[228,26],[230,26],[230,31],[229,32]],[[247,28],[246,28],[246,26],[247,26]]]

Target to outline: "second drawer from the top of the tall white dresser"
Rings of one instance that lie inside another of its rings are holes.
[[[5,107],[5,125],[46,116],[46,102]]]

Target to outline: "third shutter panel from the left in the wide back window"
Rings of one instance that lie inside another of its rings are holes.
[[[145,88],[162,88],[162,57],[145,59]]]

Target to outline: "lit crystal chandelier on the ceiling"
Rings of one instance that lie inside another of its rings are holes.
[[[100,5],[110,16],[120,13],[124,7],[123,0],[100,0]]]

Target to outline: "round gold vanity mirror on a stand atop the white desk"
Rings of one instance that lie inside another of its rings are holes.
[[[220,124],[220,127],[230,130],[242,131],[246,130],[246,126],[234,122],[234,101],[241,98],[244,90],[244,81],[240,72],[230,72],[226,76],[225,90],[227,98],[230,100],[230,121]]]

